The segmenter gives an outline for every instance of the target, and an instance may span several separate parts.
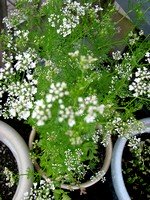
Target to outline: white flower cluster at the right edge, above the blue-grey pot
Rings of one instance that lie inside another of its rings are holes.
[[[129,90],[133,92],[134,97],[150,97],[150,69],[148,67],[137,68]]]

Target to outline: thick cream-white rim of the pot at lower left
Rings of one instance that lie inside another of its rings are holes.
[[[29,149],[22,137],[8,124],[0,121],[0,141],[2,141],[14,155],[19,171],[19,182],[13,200],[23,199],[24,193],[30,192],[32,178],[28,178],[28,170],[33,170],[29,156]]]

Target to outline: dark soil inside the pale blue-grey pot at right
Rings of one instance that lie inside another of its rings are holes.
[[[141,137],[141,136],[139,136]],[[150,147],[150,134],[144,134],[141,137],[142,141],[145,141],[145,146]],[[140,158],[136,158],[136,166],[133,164],[135,157],[125,147],[123,152],[123,172],[124,181],[127,191],[133,200],[150,200],[150,152],[142,151],[144,159],[144,168],[141,167]],[[136,178],[135,178],[136,177]]]

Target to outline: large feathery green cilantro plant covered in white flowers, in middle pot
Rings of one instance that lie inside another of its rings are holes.
[[[56,186],[80,184],[149,104],[150,42],[130,33],[112,52],[114,8],[87,2],[18,0],[0,36],[0,115],[36,129],[32,156]]]

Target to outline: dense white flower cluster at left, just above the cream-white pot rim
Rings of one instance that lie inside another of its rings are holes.
[[[4,118],[17,117],[20,119],[27,119],[31,114],[33,107],[34,96],[37,92],[37,81],[31,80],[27,82],[12,82],[5,89],[8,93],[7,101],[4,104],[2,111]]]

